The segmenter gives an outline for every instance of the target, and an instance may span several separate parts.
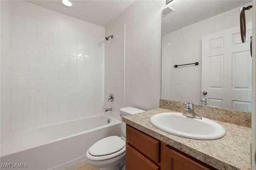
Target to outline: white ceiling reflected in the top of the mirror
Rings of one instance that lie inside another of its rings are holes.
[[[212,16],[232,10],[251,0],[175,0],[168,4],[174,8],[174,12],[162,18],[162,35],[168,34],[180,28],[184,28],[196,22],[200,22]],[[239,14],[239,10],[238,10]],[[182,22],[181,22],[182,21]],[[239,18],[238,18],[239,23]]]

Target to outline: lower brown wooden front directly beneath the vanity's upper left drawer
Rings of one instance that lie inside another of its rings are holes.
[[[142,154],[126,145],[126,170],[159,170],[159,167],[145,158]]]

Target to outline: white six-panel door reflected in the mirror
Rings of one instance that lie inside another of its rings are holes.
[[[208,99],[208,105],[251,111],[252,23],[246,30],[245,43],[240,27],[202,37],[202,92],[207,92],[202,98]]]

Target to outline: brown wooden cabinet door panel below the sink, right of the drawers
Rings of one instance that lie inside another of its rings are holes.
[[[173,150],[165,147],[165,170],[214,170],[204,164]]]

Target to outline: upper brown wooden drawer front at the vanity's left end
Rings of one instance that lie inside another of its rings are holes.
[[[126,142],[153,161],[159,162],[160,142],[126,125]]]

